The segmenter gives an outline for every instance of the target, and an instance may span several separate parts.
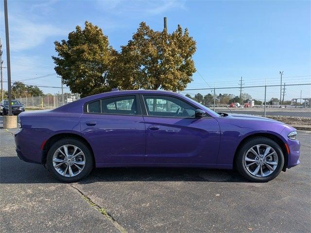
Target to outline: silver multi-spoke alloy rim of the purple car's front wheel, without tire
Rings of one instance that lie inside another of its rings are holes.
[[[265,177],[271,175],[277,167],[276,150],[271,146],[258,144],[250,148],[244,157],[244,166],[253,176]]]

